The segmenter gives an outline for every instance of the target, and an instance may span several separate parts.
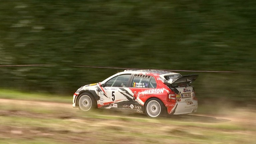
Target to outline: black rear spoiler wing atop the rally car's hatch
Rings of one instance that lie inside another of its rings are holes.
[[[178,76],[176,78],[171,78],[167,81],[165,81],[164,83],[166,85],[171,85],[174,83],[180,83],[180,82],[188,82],[188,83],[192,83],[197,79],[198,75],[197,74],[193,74],[193,75],[183,75],[183,76]]]

